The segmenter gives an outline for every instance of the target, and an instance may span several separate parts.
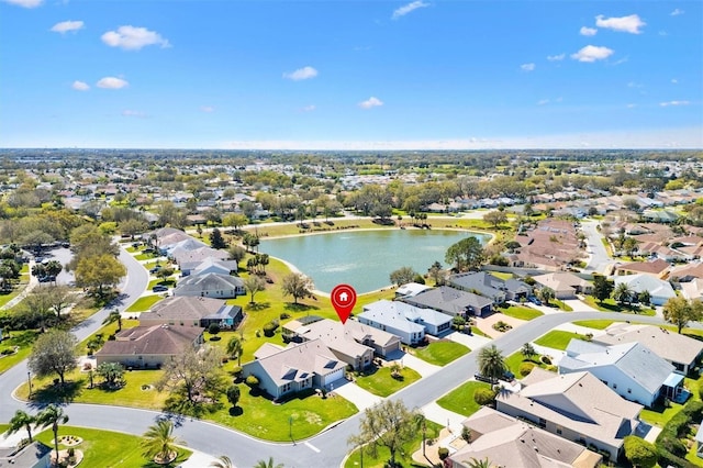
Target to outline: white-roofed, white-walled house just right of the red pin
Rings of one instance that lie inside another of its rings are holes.
[[[438,336],[448,332],[453,317],[434,309],[422,309],[401,301],[380,300],[364,305],[364,312],[358,314],[357,319],[361,323],[400,336],[405,344],[414,344],[420,343],[425,333]],[[411,334],[417,331],[417,326],[408,326],[403,322],[419,325],[422,333],[413,339]]]

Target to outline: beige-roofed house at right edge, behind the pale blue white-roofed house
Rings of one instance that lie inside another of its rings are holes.
[[[676,371],[683,375],[687,375],[703,356],[703,343],[654,325],[616,322],[605,328],[605,334],[594,336],[593,342],[603,345],[640,343],[671,363]]]

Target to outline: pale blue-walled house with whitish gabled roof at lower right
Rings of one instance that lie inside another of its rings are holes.
[[[571,339],[559,374],[589,371],[626,400],[651,408],[659,398],[676,399],[683,376],[639,343],[605,346]]]

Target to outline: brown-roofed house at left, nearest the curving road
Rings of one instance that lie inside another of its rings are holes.
[[[200,326],[180,325],[126,328],[96,353],[97,364],[120,363],[127,368],[157,368],[188,347],[198,348],[203,343],[203,331]]]

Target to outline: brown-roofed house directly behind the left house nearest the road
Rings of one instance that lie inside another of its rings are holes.
[[[174,296],[140,314],[141,325],[182,325],[208,327],[216,323],[223,328],[235,327],[244,317],[239,305],[228,305],[212,298]]]

